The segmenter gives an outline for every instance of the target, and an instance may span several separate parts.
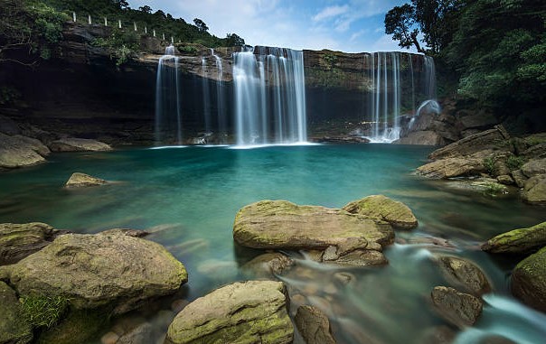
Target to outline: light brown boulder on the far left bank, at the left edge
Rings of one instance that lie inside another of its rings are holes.
[[[33,166],[44,163],[49,149],[40,141],[22,136],[0,133],[0,169]]]

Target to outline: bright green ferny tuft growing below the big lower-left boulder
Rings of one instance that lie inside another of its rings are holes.
[[[51,328],[68,309],[69,300],[62,296],[29,295],[19,300],[24,317],[33,328]]]

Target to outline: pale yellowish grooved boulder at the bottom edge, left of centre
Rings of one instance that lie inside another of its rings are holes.
[[[287,313],[287,293],[280,282],[229,284],[180,311],[165,344],[291,343],[294,327]]]

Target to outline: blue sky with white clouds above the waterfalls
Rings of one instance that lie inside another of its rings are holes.
[[[400,51],[385,34],[387,11],[404,0],[128,0],[193,23],[218,37],[237,33],[250,45],[362,52]],[[404,50],[407,51],[407,50]]]

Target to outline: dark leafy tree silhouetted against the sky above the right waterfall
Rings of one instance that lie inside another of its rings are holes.
[[[410,49],[415,45],[417,51],[424,53],[417,39],[419,29],[415,25],[415,10],[409,4],[396,6],[385,15],[385,33],[392,34],[392,39],[399,41],[400,48]]]

